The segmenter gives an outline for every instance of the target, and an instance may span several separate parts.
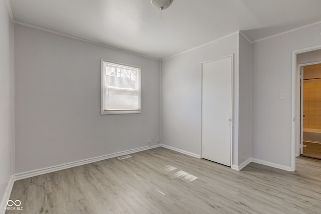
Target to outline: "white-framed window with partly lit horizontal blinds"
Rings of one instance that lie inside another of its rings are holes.
[[[141,113],[140,68],[101,60],[101,114]]]

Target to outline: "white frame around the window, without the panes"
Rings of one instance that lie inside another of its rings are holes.
[[[105,90],[104,63],[114,63],[114,64],[118,64],[118,65],[121,65],[121,66],[127,66],[127,67],[132,67],[132,68],[138,69],[138,90],[139,90],[139,102],[138,102],[138,104],[139,104],[139,109],[137,109],[137,110],[104,110],[104,99],[105,99],[104,98],[104,90]],[[101,79],[101,84],[100,84],[101,85],[100,114],[101,115],[106,115],[106,114],[140,114],[141,113],[141,67],[101,59],[101,69],[100,70],[101,70],[100,71],[100,73],[101,73],[101,77],[100,77],[100,79]]]

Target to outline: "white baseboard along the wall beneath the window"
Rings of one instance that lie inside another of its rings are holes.
[[[113,158],[113,157],[132,154],[135,152],[156,148],[161,145],[162,144],[152,145],[150,147],[144,146],[144,147],[140,147],[140,148],[136,148],[136,149],[130,149],[130,150],[126,150],[126,151],[116,152],[116,153],[112,153],[112,154],[102,155],[102,156],[88,158],[88,159],[79,160],[79,161],[74,161],[74,162],[70,162],[70,163],[64,163],[64,164],[46,167],[46,168],[42,168],[42,169],[36,169],[36,170],[32,170],[32,171],[22,172],[22,173],[15,174],[14,178],[15,178],[15,180],[21,180],[21,179],[34,177],[34,176],[38,176],[38,175],[42,175],[42,174],[47,174],[50,172],[55,172],[55,171],[59,171],[59,170],[63,170],[63,169],[68,169],[68,168],[72,168],[75,166],[93,163],[93,162],[97,162],[97,161],[101,161],[101,160],[105,160],[105,159],[109,159],[109,158]]]

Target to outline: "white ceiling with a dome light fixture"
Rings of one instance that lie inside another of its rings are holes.
[[[242,30],[255,41],[321,21],[320,0],[10,0],[16,22],[164,59]],[[321,29],[320,29],[321,30]]]

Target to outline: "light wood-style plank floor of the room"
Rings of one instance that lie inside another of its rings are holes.
[[[320,160],[235,171],[161,147],[131,156],[16,181],[24,210],[6,213],[321,213]]]

